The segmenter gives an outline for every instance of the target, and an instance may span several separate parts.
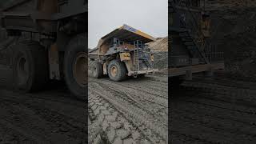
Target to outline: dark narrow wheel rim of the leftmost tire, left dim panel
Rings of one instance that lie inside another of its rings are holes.
[[[16,68],[18,72],[18,84],[25,84],[29,79],[29,66],[25,57],[18,58]]]

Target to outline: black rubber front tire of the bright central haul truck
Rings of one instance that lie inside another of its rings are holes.
[[[110,69],[112,66],[116,66],[118,72],[115,76],[111,75]],[[115,82],[120,82],[126,79],[126,65],[124,62],[120,62],[118,60],[112,60],[108,66],[107,72],[111,80]]]

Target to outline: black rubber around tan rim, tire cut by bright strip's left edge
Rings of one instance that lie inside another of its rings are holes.
[[[69,88],[72,95],[76,98],[85,100],[87,95],[87,86],[88,86],[88,70],[86,70],[86,83],[83,86],[80,86],[76,79],[74,78],[74,62],[76,60],[77,54],[81,52],[85,52],[88,54],[87,46],[87,38],[86,34],[79,34],[72,38],[66,47],[65,55],[64,55],[64,66],[63,66],[63,74],[66,81],[66,86]],[[86,62],[88,62],[88,58],[86,58]],[[88,64],[86,64],[88,66]]]

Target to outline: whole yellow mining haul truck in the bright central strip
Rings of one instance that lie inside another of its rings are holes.
[[[93,76],[102,78],[108,75],[113,81],[122,81],[129,76],[140,77],[152,74],[154,69],[154,54],[147,42],[155,38],[123,25],[102,37],[98,46],[89,51],[89,58],[95,61]]]

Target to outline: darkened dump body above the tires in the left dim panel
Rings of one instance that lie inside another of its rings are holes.
[[[85,13],[86,5],[84,0],[17,0],[2,10],[2,27],[51,34],[58,19]]]

